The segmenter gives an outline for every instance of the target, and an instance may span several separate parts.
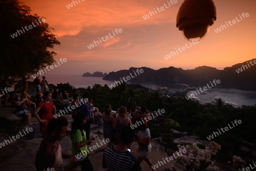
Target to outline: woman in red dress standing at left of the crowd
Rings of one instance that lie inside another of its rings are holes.
[[[35,109],[35,116],[40,122],[40,132],[46,134],[49,120],[53,118],[53,114],[56,115],[56,107],[52,101],[52,93],[50,91],[45,92],[43,98],[44,101],[41,101]],[[40,117],[38,115],[39,111],[41,112]]]

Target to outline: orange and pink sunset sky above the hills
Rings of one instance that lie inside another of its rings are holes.
[[[142,16],[164,3],[167,5],[167,1],[77,0],[79,4],[68,9],[71,0],[22,0],[31,7],[32,14],[46,18],[49,26],[55,28],[52,33],[61,41],[60,47],[53,49],[58,53],[55,60],[68,60],[49,74],[109,73],[131,66],[194,69],[207,65],[223,69],[255,58],[256,1],[214,0],[217,20],[207,37],[165,60],[170,51],[189,45],[176,28],[176,14],[184,0],[177,0],[178,3],[146,20]],[[243,12],[250,16],[219,33],[214,31],[221,24],[240,18]],[[87,47],[98,37],[109,33],[113,36],[115,28],[122,32],[92,49]]]

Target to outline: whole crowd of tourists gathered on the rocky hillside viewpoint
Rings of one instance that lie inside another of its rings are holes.
[[[15,82],[9,85],[13,87],[15,93],[19,91],[16,89]],[[139,120],[147,117],[149,112],[146,107],[137,107],[133,114],[131,111],[127,112],[125,106],[119,107],[116,114],[113,115],[112,106],[106,104],[104,112],[100,112],[98,107],[93,106],[93,100],[88,99],[87,103],[81,103],[79,91],[73,94],[73,98],[69,100],[68,106],[75,105],[76,108],[72,110],[72,155],[61,153],[61,147],[58,141],[66,136],[67,119],[64,116],[54,118],[56,114],[55,103],[52,98],[55,98],[59,103],[63,103],[63,95],[59,89],[55,91],[48,89],[48,81],[46,77],[40,81],[39,77],[34,80],[36,97],[35,102],[31,101],[31,96],[27,93],[28,85],[24,81],[24,89],[20,94],[10,94],[15,99],[15,114],[26,117],[29,125],[31,122],[31,112],[27,110],[28,106],[34,108],[32,112],[36,119],[38,119],[40,126],[40,133],[44,139],[40,144],[39,151],[36,155],[35,166],[36,170],[47,170],[53,168],[55,170],[71,170],[81,165],[82,170],[93,170],[93,165],[88,158],[86,149],[90,147],[91,141],[97,137],[90,137],[90,124],[94,123],[98,126],[98,131],[103,128],[104,139],[108,139],[107,148],[104,151],[102,159],[102,167],[107,170],[142,170],[141,162],[146,161],[149,166],[152,162],[148,158],[151,152],[150,144],[150,130],[145,122],[138,127],[138,130],[133,130],[131,116],[136,115]],[[5,86],[6,86],[5,85]],[[42,87],[42,89],[41,89]],[[65,92],[65,98],[68,93]],[[9,96],[10,98],[10,96]],[[128,151],[132,143],[138,143],[138,154],[134,151]],[[83,152],[82,159],[76,159],[76,155]],[[85,153],[84,153],[85,152]],[[67,167],[63,167],[62,158],[69,158],[71,162]]]

